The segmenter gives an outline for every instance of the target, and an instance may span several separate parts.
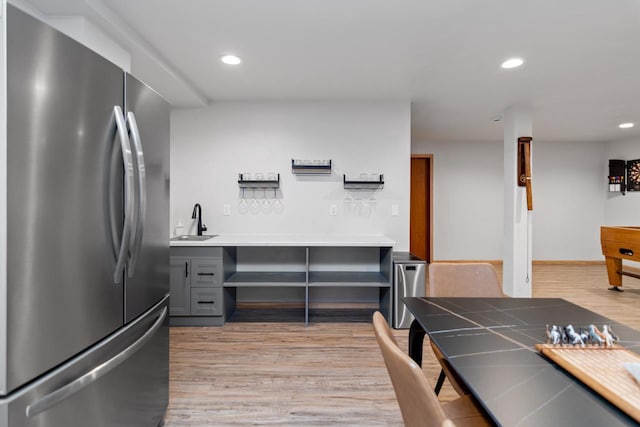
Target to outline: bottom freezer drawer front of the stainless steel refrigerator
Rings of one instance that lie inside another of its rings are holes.
[[[29,386],[0,400],[1,427],[155,427],[169,397],[168,296]]]

